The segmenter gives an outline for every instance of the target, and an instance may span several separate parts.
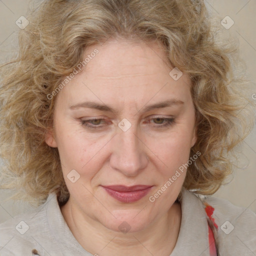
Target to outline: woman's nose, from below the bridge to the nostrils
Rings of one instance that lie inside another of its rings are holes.
[[[126,176],[138,175],[148,163],[146,145],[132,128],[119,130],[113,138],[112,148],[110,166]]]

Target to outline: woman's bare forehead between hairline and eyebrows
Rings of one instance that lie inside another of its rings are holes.
[[[86,65],[63,89],[71,101],[93,97],[135,102],[152,96],[165,100],[163,97],[168,94],[182,96],[180,99],[186,101],[189,96],[188,75],[183,74],[178,80],[170,76],[174,67],[158,42],[109,40],[87,47],[83,59]]]

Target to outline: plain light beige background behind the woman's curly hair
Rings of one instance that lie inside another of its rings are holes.
[[[39,3],[39,1],[37,1]],[[231,33],[239,40],[241,57],[245,60],[248,77],[256,93],[256,1],[255,0],[207,0],[210,13],[217,15],[223,34]],[[18,27],[15,21],[26,16],[28,0],[0,0],[0,62],[15,54]],[[220,20],[229,16],[234,24],[228,30]],[[232,181],[221,187],[215,196],[228,199],[233,204],[250,208],[256,212],[256,129],[245,140],[243,155]],[[31,209],[27,204],[8,201],[1,203],[6,191],[0,190],[0,222]]]

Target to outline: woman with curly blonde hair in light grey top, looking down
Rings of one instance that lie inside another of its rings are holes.
[[[256,215],[206,196],[254,116],[203,2],[51,0],[27,19],[1,68],[1,187],[38,208],[0,225],[0,254],[255,253]]]

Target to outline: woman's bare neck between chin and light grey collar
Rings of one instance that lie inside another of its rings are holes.
[[[106,228],[97,220],[84,216],[70,200],[60,209],[75,239],[92,255],[169,256],[175,246],[181,221],[179,202],[173,203],[166,214],[143,230],[132,233]]]

